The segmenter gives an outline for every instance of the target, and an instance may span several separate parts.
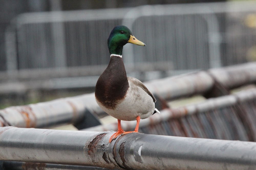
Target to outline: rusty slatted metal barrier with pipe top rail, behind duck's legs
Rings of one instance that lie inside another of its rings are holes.
[[[196,104],[161,110],[140,121],[140,133],[209,139],[256,141],[256,87],[236,94],[211,98]],[[136,121],[122,121],[131,131]],[[118,130],[117,123],[82,129],[102,132]]]

